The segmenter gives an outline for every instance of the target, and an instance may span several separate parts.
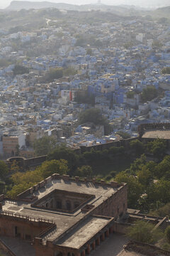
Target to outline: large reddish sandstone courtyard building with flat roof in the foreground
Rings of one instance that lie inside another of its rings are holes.
[[[84,256],[125,218],[127,186],[53,174],[16,201],[0,200],[0,235],[32,242],[36,256]]]

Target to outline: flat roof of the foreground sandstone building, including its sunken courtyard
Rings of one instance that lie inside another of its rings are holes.
[[[57,241],[57,244],[60,242],[61,245],[72,245],[75,248],[83,245],[113,220],[107,217],[88,216],[87,213],[124,185],[75,181],[70,178],[66,180],[66,178],[69,177],[46,178],[45,181],[21,193],[17,201],[4,200],[2,207],[4,213],[1,214],[18,215],[18,218],[29,216],[31,221],[34,219],[53,221],[57,229],[48,238],[51,241],[59,239],[65,231],[74,227],[77,222],[81,222],[78,229],[71,229],[62,240]]]

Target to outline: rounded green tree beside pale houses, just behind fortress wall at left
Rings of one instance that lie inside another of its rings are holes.
[[[44,136],[40,139],[36,139],[33,147],[36,156],[49,154],[53,149],[55,149],[55,138],[52,136]]]

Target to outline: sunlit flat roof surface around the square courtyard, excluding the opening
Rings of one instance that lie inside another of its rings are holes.
[[[51,181],[47,181],[45,184],[45,187],[38,188],[37,191],[34,191],[32,194],[28,193],[28,198],[31,196],[37,196],[37,200],[33,203],[26,202],[18,200],[18,201],[11,201],[11,200],[4,200],[2,210],[4,212],[15,214],[15,215],[21,215],[21,216],[29,216],[30,218],[42,218],[46,220],[52,220],[57,224],[57,230],[55,233],[52,233],[52,235],[49,236],[48,240],[54,241],[57,238],[60,237],[65,231],[67,231],[69,228],[71,228],[74,224],[76,224],[78,221],[82,220],[84,216],[86,215],[86,212],[82,212],[81,208],[87,205],[87,203],[84,203],[84,206],[78,207],[74,212],[61,212],[60,210],[56,209],[48,209],[48,208],[37,208],[34,207],[33,204],[39,201],[40,199],[47,196],[49,193],[55,190],[60,191],[67,191],[69,192],[77,192],[81,194],[89,194],[94,195],[92,198],[89,198],[88,206],[93,206],[93,208],[99,206],[103,201],[107,200],[109,196],[111,196],[113,193],[116,193],[118,189],[122,187],[111,187],[109,185],[102,185],[101,183],[92,183],[92,182],[84,182],[84,181],[74,181],[69,180],[65,181],[62,178],[59,179],[52,179]],[[27,198],[27,196],[25,197]],[[20,198],[18,198],[20,199]],[[104,218],[98,219],[98,218],[92,218],[89,220],[89,223],[86,223],[85,229],[86,234],[88,237],[90,237],[91,232],[95,233],[97,229],[100,229],[103,225],[106,224],[108,220],[105,220]],[[91,228],[93,227],[93,228]],[[83,228],[82,228],[83,230]],[[79,238],[77,241],[77,245],[79,246],[79,243],[83,243],[84,239],[81,238],[81,233],[83,231],[74,230],[74,235]],[[85,234],[85,233],[84,233]],[[72,235],[70,235],[70,240],[66,243],[75,244],[74,238],[72,238]],[[74,242],[72,242],[74,240]],[[85,238],[85,240],[88,240],[88,238]],[[64,241],[63,241],[64,242]]]

